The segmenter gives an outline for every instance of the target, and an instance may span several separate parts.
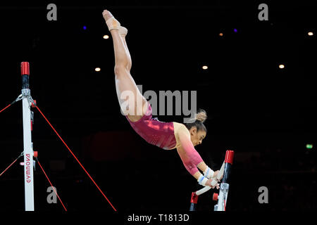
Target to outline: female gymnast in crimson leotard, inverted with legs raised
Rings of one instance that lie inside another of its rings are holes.
[[[104,10],[102,15],[113,39],[116,64],[114,73],[118,101],[132,128],[148,143],[168,150],[176,148],[183,165],[199,184],[219,188],[218,183],[215,186],[211,185],[211,181],[216,179],[219,171],[214,172],[209,168],[194,148],[194,146],[201,144],[206,137],[207,130],[204,126],[206,112],[201,110],[196,114],[194,121],[187,124],[161,122],[152,118],[151,105],[139,92],[130,74],[132,61],[125,41],[128,30],[122,27],[109,11]],[[128,105],[127,100],[130,100],[131,95],[125,96],[127,93],[132,94],[133,97],[133,101],[130,101]],[[204,174],[201,174],[197,168]]]

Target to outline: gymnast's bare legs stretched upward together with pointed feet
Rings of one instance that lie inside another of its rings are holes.
[[[103,12],[103,15],[106,21],[113,18],[113,15],[106,10]],[[131,56],[125,42],[125,34],[120,34],[118,30],[123,28],[120,28],[120,26],[118,27],[118,25],[116,27],[116,22],[113,22],[112,25],[113,29],[111,29],[110,32],[113,39],[113,49],[115,53],[116,65],[114,72],[118,101],[123,113],[128,115],[128,118],[132,122],[135,122],[141,119],[141,117],[145,114],[147,110],[147,99],[139,92],[137,84],[135,84],[135,81],[130,74],[132,65]]]

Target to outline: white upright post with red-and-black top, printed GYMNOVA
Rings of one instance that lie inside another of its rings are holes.
[[[24,184],[25,211],[34,211],[34,180],[33,180],[33,147],[31,136],[31,103],[30,103],[30,65],[21,63],[22,75],[22,105],[23,105],[23,155],[24,155]]]

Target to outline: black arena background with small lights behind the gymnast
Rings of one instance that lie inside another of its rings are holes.
[[[57,20],[47,19],[49,4],[56,4]],[[268,20],[259,20],[260,4],[267,4]],[[197,109],[208,115],[206,139],[196,147],[201,158],[216,170],[225,151],[235,150],[226,211],[316,211],[316,7],[316,1],[1,1],[0,108],[21,93],[20,63],[29,62],[32,98],[118,212],[187,212],[201,186],[175,149],[150,145],[120,113],[107,9],[128,28],[131,75],[142,94],[197,91]],[[33,148],[67,210],[113,212],[32,110]],[[154,117],[186,116],[174,110]],[[0,128],[2,172],[23,152],[21,102],[0,113]],[[25,210],[22,161],[0,176],[1,211]],[[63,212],[59,201],[47,202],[51,185],[37,164],[34,185],[35,211]],[[268,203],[259,203],[263,186]],[[213,211],[214,191],[199,197],[197,211]]]

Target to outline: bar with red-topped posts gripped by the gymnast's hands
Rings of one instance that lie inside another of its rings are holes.
[[[217,193],[213,193],[213,200],[218,200],[218,204],[214,206],[214,211],[225,211],[225,205],[227,203],[228,191],[229,191],[228,177],[230,174],[234,155],[235,155],[235,152],[233,150],[227,150],[225,152],[225,161],[223,162],[223,165],[221,166],[217,175],[218,180],[220,179],[221,176],[223,176],[223,179],[220,184],[219,195]],[[216,180],[211,181],[211,185],[215,186],[216,184],[217,184]],[[204,188],[201,188],[199,191],[195,191],[192,193],[192,197],[190,199],[189,211],[196,210],[198,196],[205,193],[206,191],[209,191],[210,189],[211,189],[211,186],[206,186]],[[218,205],[220,205],[220,207],[218,207]]]

